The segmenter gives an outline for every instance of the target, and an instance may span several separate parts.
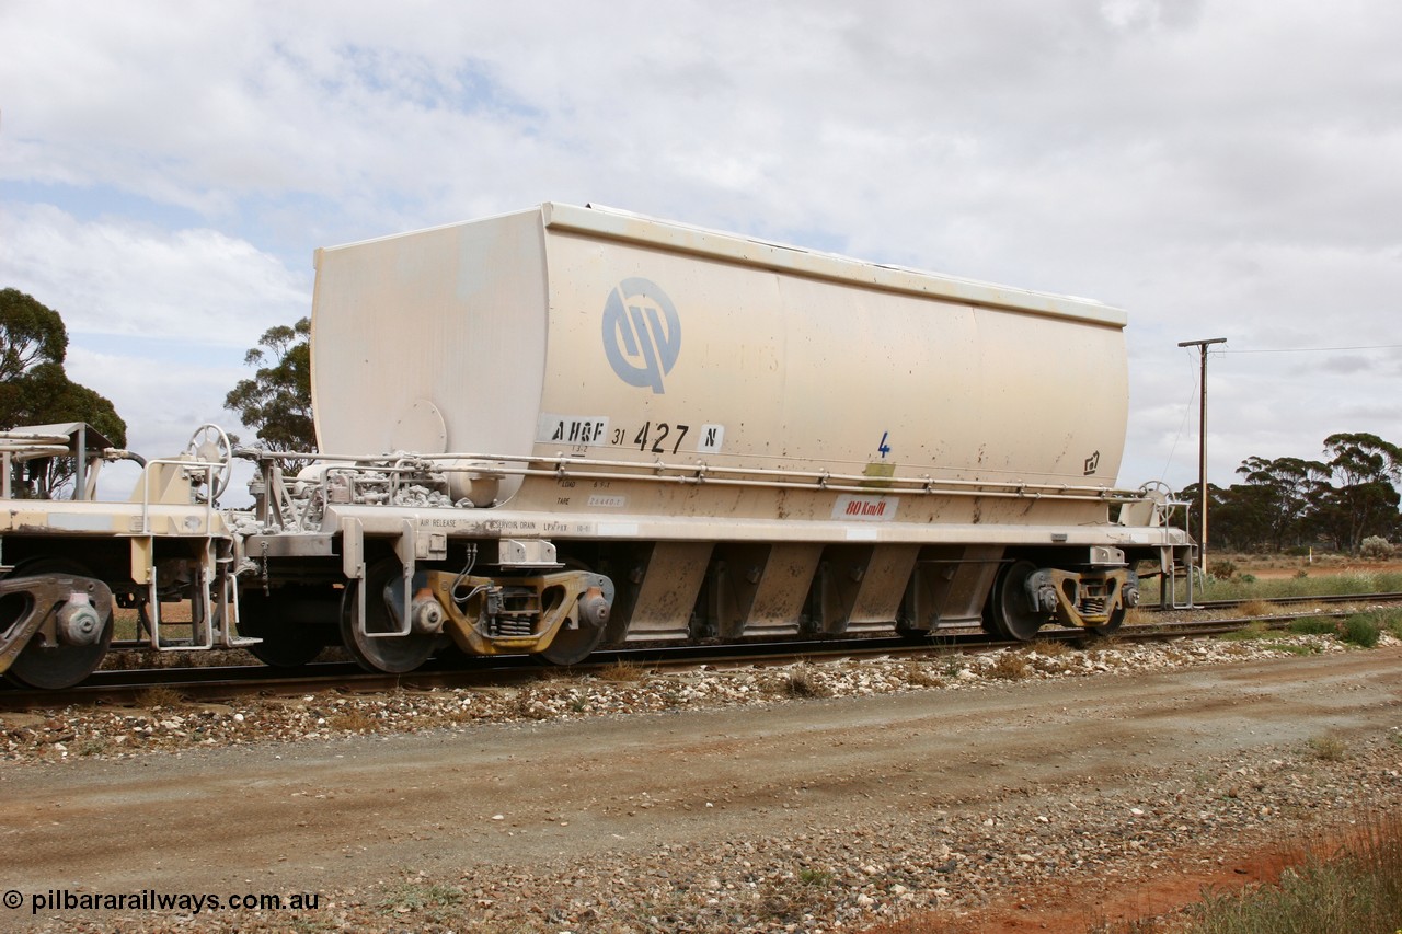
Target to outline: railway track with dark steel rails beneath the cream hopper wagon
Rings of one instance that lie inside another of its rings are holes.
[[[1395,603],[1402,593],[1329,595],[1315,597],[1280,597],[1272,600],[1210,600],[1193,611],[1220,611],[1246,603],[1273,606]],[[1158,607],[1145,607],[1151,613]],[[1179,610],[1183,611],[1183,610]],[[1349,611],[1311,613],[1312,617],[1345,617]],[[1239,616],[1187,620],[1155,620],[1126,625],[1115,638],[1122,641],[1165,639],[1221,635],[1252,623],[1284,628],[1298,614]],[[1047,628],[1039,639],[1085,642],[1081,630]],[[437,690],[453,687],[503,686],[538,680],[550,670],[600,673],[610,666],[634,665],[653,669],[694,666],[780,666],[795,661],[822,661],[861,656],[925,656],[952,649],[994,651],[1028,645],[998,639],[987,632],[967,630],[939,634],[925,639],[859,638],[810,639],[803,642],[763,642],[749,645],[681,645],[645,649],[596,652],[587,663],[571,669],[543,668],[530,656],[471,658],[447,665],[430,662],[407,675],[383,675],[362,670],[350,662],[320,662],[296,672],[279,672],[265,665],[186,666],[156,669],[107,669],[91,675],[83,684],[60,691],[25,690],[11,684],[0,687],[0,710],[59,708],[67,705],[140,704],[153,690],[164,690],[185,700],[229,700],[250,696],[296,696],[315,691],[377,693],[393,690]]]

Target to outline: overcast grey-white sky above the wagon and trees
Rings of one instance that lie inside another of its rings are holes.
[[[0,287],[164,454],[315,247],[594,202],[1126,309],[1123,485],[1196,480],[1225,337],[1228,484],[1402,443],[1399,48],[1392,0],[0,0]]]

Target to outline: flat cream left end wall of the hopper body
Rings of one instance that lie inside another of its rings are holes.
[[[317,251],[311,398],[327,454],[530,454],[545,377],[530,210]],[[520,487],[454,484],[478,505]]]

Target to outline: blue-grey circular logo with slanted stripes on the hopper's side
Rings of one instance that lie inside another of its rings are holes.
[[[681,352],[681,321],[667,293],[648,279],[624,279],[604,303],[604,353],[628,386],[662,394],[662,377]]]

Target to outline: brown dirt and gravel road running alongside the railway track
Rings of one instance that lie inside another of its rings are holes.
[[[1402,647],[1286,642],[6,714],[0,927],[1088,923],[1402,798]]]

